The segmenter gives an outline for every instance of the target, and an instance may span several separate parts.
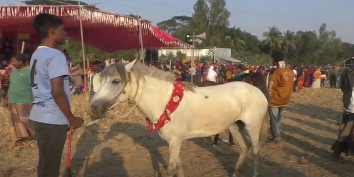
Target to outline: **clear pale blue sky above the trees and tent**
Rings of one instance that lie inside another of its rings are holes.
[[[19,1],[20,2],[20,1]],[[153,24],[173,16],[193,13],[196,0],[84,0],[103,11],[119,14],[140,14]],[[0,5],[15,4],[16,0],[1,0]],[[280,31],[318,30],[323,23],[335,30],[342,41],[354,43],[353,0],[227,0],[231,26],[262,38],[270,26]]]

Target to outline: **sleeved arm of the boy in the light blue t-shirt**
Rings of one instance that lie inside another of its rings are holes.
[[[71,112],[69,100],[64,91],[64,78],[69,77],[65,56],[56,55],[48,61],[48,73],[51,81],[51,94],[65,117],[72,122],[75,117]]]

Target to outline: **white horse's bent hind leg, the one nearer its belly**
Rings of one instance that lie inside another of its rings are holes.
[[[240,157],[236,163],[235,173],[233,174],[233,177],[237,177],[237,176],[240,176],[242,165],[246,159],[246,155],[247,155],[247,152],[250,147],[247,147],[247,145],[241,135],[240,128],[238,127],[238,125],[236,123],[233,123],[232,125],[230,125],[229,130],[230,130],[232,136],[234,137],[234,140],[237,142],[237,144],[240,146],[240,149],[241,149]]]

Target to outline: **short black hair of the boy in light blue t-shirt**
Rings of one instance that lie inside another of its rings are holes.
[[[48,37],[50,29],[57,28],[63,24],[63,20],[56,15],[40,13],[34,18],[32,26],[37,31],[39,37],[43,39]]]

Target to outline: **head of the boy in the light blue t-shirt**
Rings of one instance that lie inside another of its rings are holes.
[[[33,27],[39,37],[54,41],[57,45],[64,45],[66,32],[63,20],[55,15],[40,13],[33,20]]]

